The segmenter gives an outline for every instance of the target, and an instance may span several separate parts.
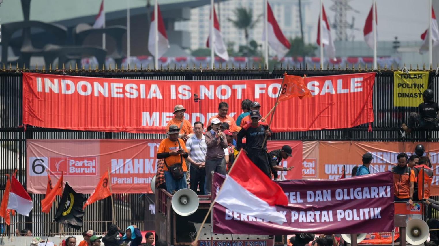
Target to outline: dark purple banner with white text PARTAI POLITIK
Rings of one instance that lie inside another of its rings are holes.
[[[225,176],[215,173],[214,196],[224,179]],[[392,172],[339,180],[301,179],[277,183],[288,197],[288,206],[277,206],[277,211],[285,215],[284,224],[263,221],[215,204],[213,232],[257,235],[294,232],[351,234],[391,232],[394,228]]]

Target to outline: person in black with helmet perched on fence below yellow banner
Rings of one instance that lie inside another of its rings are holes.
[[[426,89],[422,93],[424,102],[417,106],[419,113],[410,112],[407,125],[403,123],[401,126],[407,134],[410,134],[415,123],[419,123],[420,127],[424,129],[433,129],[438,126],[439,106],[437,102],[433,101],[433,96],[432,89]]]

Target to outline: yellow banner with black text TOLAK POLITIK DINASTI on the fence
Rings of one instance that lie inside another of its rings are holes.
[[[429,72],[401,71],[393,73],[393,106],[394,107],[417,107],[422,99],[422,92],[428,88]]]

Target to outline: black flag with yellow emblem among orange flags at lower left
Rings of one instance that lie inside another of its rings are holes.
[[[54,221],[79,230],[83,225],[84,200],[84,195],[76,193],[66,182]]]

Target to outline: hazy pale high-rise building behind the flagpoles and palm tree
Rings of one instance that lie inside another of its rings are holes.
[[[302,0],[303,35],[306,43],[312,42],[310,15],[310,0]],[[269,0],[273,14],[284,35],[289,38],[300,37],[299,0]],[[219,6],[218,6],[219,5]],[[235,50],[245,45],[244,30],[237,29],[229,19],[236,19],[234,11],[244,7],[252,10],[253,20],[259,19],[254,28],[248,30],[248,41],[255,40],[262,44],[264,0],[225,0],[215,3],[216,14],[219,18],[221,32],[226,44],[232,44]],[[191,34],[191,49],[206,47],[209,35],[210,5],[191,9],[191,19],[175,23],[176,30],[189,31]],[[317,19],[317,16],[314,16]]]

